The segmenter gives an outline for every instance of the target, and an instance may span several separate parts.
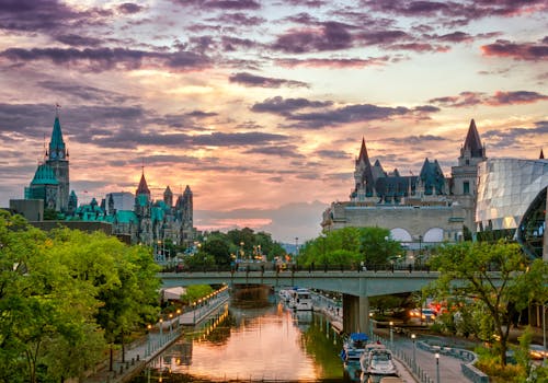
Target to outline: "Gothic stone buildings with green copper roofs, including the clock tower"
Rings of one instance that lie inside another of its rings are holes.
[[[44,161],[38,164],[28,187],[25,187],[24,199],[10,200],[10,209],[44,229],[58,223],[78,229],[100,229],[127,243],[147,245],[172,243],[190,246],[194,242],[190,186],[176,196],[175,201],[169,186],[163,192],[163,199],[153,200],[142,169],[135,194],[109,193],[100,202],[93,198],[89,204],[79,205],[76,193],[69,193],[69,151],[57,113]],[[44,220],[48,213],[55,214],[56,219]]]

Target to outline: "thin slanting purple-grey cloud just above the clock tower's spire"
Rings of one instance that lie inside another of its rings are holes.
[[[53,94],[59,95],[61,98],[77,97],[85,102],[93,103],[124,103],[136,100],[135,96],[128,96],[116,92],[106,91],[104,89],[82,85],[65,81],[45,80],[37,83],[45,90],[52,91]],[[59,98],[58,98],[59,100]]]

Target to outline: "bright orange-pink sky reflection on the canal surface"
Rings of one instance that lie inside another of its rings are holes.
[[[237,326],[222,345],[194,340],[192,362],[175,363],[174,373],[208,380],[316,380],[318,371],[306,353],[301,332],[281,305],[261,310],[233,310]],[[242,368],[244,367],[244,368]]]

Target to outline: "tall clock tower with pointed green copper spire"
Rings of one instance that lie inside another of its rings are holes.
[[[46,152],[46,164],[54,170],[59,182],[59,206],[61,212],[67,212],[69,205],[69,161],[68,150],[62,140],[59,111],[55,114],[54,130],[49,141],[49,151]]]

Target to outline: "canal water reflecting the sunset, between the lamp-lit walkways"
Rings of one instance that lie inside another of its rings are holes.
[[[232,299],[187,328],[135,378],[144,382],[341,382],[342,339],[319,313],[293,312],[270,294]]]

